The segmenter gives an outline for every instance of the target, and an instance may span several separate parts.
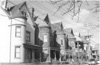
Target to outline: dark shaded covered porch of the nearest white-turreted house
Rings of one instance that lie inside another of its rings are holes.
[[[24,45],[24,62],[34,63],[41,62],[41,48],[38,45],[23,44]]]

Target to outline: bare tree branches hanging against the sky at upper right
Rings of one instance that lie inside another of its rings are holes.
[[[91,7],[89,10],[93,13],[93,14],[98,14],[100,13],[100,2],[99,1],[94,1],[95,5],[94,7]],[[54,12],[54,15],[60,11],[60,9],[63,9],[63,7],[65,8],[65,12],[62,12],[62,15],[65,15],[67,13],[72,13],[72,18],[76,15],[78,15],[78,20],[77,22],[79,22],[79,17],[80,17],[80,10],[81,7],[83,5],[83,3],[85,3],[87,6],[89,6],[89,1],[87,0],[50,0],[50,3],[52,5],[56,5],[58,6],[58,9]],[[60,3],[60,4],[59,4]],[[96,15],[98,21],[99,21],[99,15]],[[92,23],[91,23],[92,24]],[[99,24],[97,25],[91,25],[93,28],[99,28]]]

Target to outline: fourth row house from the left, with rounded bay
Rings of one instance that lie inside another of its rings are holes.
[[[64,33],[65,33],[65,39],[66,39],[66,59],[72,59],[73,55],[75,54],[75,41],[76,38],[74,36],[73,33],[73,29],[72,28],[66,28],[64,29]]]

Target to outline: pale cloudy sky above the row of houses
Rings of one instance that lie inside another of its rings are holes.
[[[59,11],[55,13],[57,10],[57,5],[52,5],[48,0],[9,0],[14,4],[19,4],[21,2],[26,1],[27,5],[31,11],[31,8],[35,8],[35,15],[42,16],[49,14],[50,21],[52,23],[62,22],[64,28],[72,28],[75,35],[79,33],[81,35],[92,35],[91,40],[96,43],[99,43],[99,28],[95,26],[99,24],[97,18],[99,14],[93,13],[90,9],[95,7],[96,0],[84,0],[82,7],[80,9],[80,13],[72,18],[72,12],[69,12],[62,16],[62,13],[66,11],[66,7],[61,8]],[[99,1],[98,1],[99,2]],[[11,3],[9,3],[11,4]],[[12,4],[13,5],[13,4]],[[77,7],[76,7],[77,9]],[[55,14],[54,14],[55,13]],[[79,19],[78,19],[79,17]]]

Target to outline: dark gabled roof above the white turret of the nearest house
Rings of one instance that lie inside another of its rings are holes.
[[[26,2],[12,6],[10,8],[10,18],[25,17],[25,14],[22,12],[22,7],[25,5],[26,5]],[[23,11],[25,12],[25,9]]]

